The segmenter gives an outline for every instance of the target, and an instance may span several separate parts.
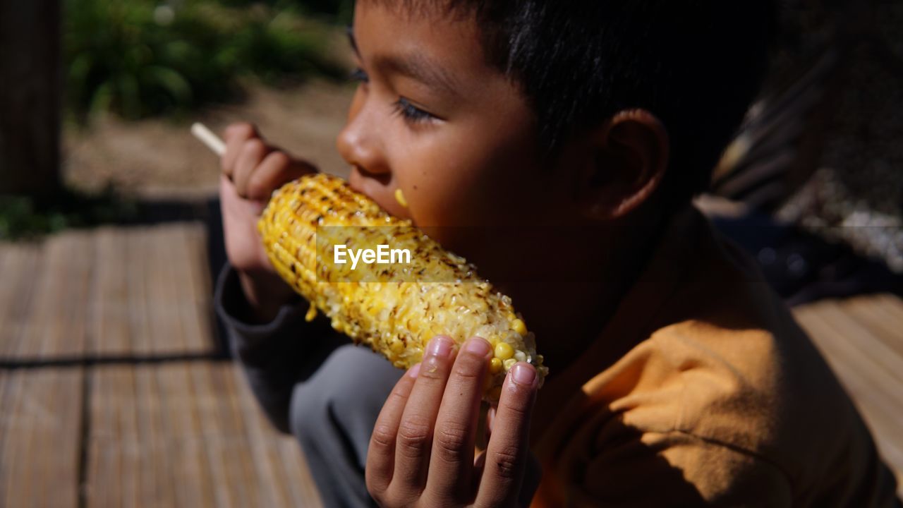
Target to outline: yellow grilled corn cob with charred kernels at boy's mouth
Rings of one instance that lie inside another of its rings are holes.
[[[340,178],[307,175],[273,194],[258,223],[270,261],[332,327],[366,343],[396,367],[420,362],[426,343],[446,334],[457,343],[479,335],[494,348],[484,400],[498,402],[506,372],[530,362],[542,383],[548,369],[536,354],[511,299],[477,277],[465,259],[445,251],[411,221],[384,212]],[[335,245],[407,249],[409,264],[334,262]],[[350,282],[349,282],[350,281]]]

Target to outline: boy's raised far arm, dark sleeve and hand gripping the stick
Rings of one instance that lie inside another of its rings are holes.
[[[251,124],[233,124],[223,137],[219,202],[228,265],[217,285],[217,311],[257,400],[288,432],[295,383],[348,341],[322,320],[304,322],[306,306],[275,273],[256,225],[275,189],[316,168],[267,144]]]

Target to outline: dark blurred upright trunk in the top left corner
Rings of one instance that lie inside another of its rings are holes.
[[[60,0],[0,0],[0,194],[60,187]]]

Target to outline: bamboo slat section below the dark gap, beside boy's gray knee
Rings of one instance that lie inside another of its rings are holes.
[[[227,362],[91,373],[88,506],[316,506],[293,437]]]

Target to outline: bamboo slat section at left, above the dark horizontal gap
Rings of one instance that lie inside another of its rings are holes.
[[[0,362],[213,353],[200,222],[0,244],[0,278]]]

